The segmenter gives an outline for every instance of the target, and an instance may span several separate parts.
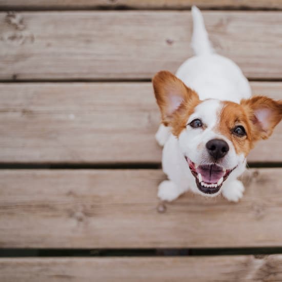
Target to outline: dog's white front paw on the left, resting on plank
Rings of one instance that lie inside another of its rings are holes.
[[[183,194],[187,190],[188,190],[188,187],[177,186],[171,180],[164,180],[158,186],[157,195],[160,199],[171,202],[172,200],[175,200],[176,198],[178,198],[181,194]]]

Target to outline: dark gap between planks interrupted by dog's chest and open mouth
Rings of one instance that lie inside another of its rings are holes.
[[[282,162],[248,163],[249,168],[282,168]],[[91,163],[0,163],[0,170],[5,169],[161,169],[161,163],[121,163],[121,164],[91,164]]]

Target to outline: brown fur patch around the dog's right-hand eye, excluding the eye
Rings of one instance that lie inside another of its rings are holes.
[[[245,109],[236,103],[224,101],[220,112],[220,122],[217,131],[231,140],[237,154],[248,155],[253,147],[251,126]],[[243,126],[247,135],[237,136],[233,133],[236,126]]]

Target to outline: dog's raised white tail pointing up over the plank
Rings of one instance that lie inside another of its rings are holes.
[[[204,19],[200,10],[196,7],[192,7],[193,17],[193,34],[191,46],[196,55],[205,55],[214,53],[212,45],[209,41],[208,32],[205,28]]]

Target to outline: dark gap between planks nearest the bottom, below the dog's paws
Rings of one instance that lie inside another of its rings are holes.
[[[112,256],[220,256],[281,254],[282,247],[258,248],[145,248],[145,249],[36,249],[2,248],[0,257],[112,257]]]

